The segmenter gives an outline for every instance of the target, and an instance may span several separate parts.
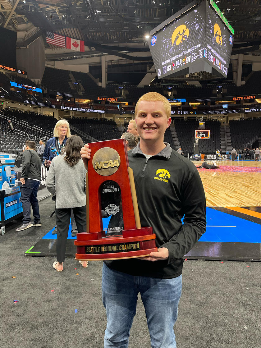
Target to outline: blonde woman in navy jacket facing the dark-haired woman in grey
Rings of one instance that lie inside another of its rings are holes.
[[[71,136],[68,121],[59,120],[54,126],[54,136],[49,139],[45,146],[44,155],[42,155],[42,164],[49,168],[52,159],[61,155],[62,148],[65,146],[67,139]]]

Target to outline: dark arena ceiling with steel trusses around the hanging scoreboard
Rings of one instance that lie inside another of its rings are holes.
[[[148,52],[144,35],[188,3],[186,0],[0,0],[0,25],[19,32],[31,24],[39,35],[48,30],[85,40],[89,50],[96,53],[110,54],[115,46],[123,46],[120,54],[127,59],[130,51]],[[260,0],[217,0],[216,4],[235,31],[232,54],[261,54]],[[59,48],[48,44],[46,48],[55,49],[58,58]]]

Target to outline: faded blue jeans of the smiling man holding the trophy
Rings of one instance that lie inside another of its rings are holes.
[[[131,276],[103,264],[102,297],[107,314],[104,348],[127,348],[141,294],[152,348],[176,348],[173,326],[181,296],[182,276],[158,279]]]

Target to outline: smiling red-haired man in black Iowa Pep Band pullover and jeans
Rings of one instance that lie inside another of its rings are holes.
[[[176,348],[173,325],[181,296],[182,257],[206,230],[205,193],[195,165],[164,143],[171,124],[168,100],[156,92],[144,94],[135,118],[140,142],[128,151],[129,166],[141,226],[152,226],[158,251],[104,261],[102,292],[108,320],[104,348],[128,346],[139,292],[151,346]],[[89,145],[81,149],[81,157],[87,169]]]

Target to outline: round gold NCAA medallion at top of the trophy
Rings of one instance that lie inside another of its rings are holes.
[[[119,166],[120,156],[112,148],[99,149],[93,156],[93,168],[100,175],[112,175],[117,172]]]

